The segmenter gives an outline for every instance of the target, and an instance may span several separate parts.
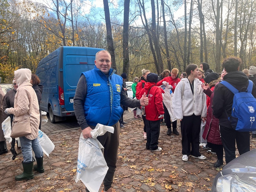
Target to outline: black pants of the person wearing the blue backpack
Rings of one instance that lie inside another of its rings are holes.
[[[249,132],[238,132],[220,125],[220,135],[225,151],[226,163],[236,158],[236,146],[240,155],[250,151]]]

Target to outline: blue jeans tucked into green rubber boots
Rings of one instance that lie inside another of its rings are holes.
[[[34,140],[29,140],[26,137],[20,137],[20,144],[24,163],[32,161],[32,148],[35,153],[35,157],[43,156],[43,149],[37,138]]]

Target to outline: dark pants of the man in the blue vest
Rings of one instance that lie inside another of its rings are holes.
[[[114,127],[114,133],[106,132],[102,136],[98,136],[97,139],[100,141],[104,147],[103,156],[108,165],[108,172],[103,180],[104,190],[107,191],[111,188],[113,183],[114,173],[116,171],[116,162],[117,162],[117,152],[119,147],[119,135],[120,135],[120,124],[117,122],[112,125]],[[94,129],[94,126],[90,127]],[[86,189],[89,192],[88,189]]]

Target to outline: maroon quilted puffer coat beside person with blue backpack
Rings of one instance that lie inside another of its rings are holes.
[[[217,82],[214,81],[216,84]],[[212,85],[211,89],[208,88],[204,93],[210,97],[210,105],[208,107],[208,115],[206,118],[206,124],[204,128],[203,138],[208,142],[216,145],[222,145],[220,139],[220,128],[219,128],[219,119],[213,116],[212,114],[212,99],[214,96],[215,84]]]

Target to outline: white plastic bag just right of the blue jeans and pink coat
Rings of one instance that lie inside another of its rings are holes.
[[[52,143],[50,138],[44,134],[41,130],[38,130],[38,141],[43,149],[45,155],[49,157],[49,154],[53,151],[55,145]]]

